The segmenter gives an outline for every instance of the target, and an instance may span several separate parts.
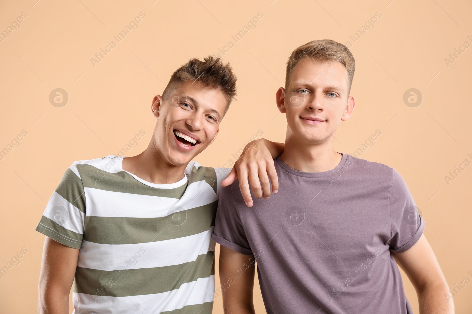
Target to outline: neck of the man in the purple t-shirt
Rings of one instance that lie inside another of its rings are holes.
[[[285,139],[285,149],[280,155],[288,167],[302,172],[324,172],[337,167],[342,155],[333,150],[334,135],[320,143],[306,141],[289,135]]]

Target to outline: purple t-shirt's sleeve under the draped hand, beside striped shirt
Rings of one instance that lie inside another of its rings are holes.
[[[238,187],[236,180],[232,185],[221,188],[216,211],[215,228],[211,238],[219,244],[244,255],[253,255],[243,225],[237,213],[232,188]],[[243,206],[245,206],[243,204]]]

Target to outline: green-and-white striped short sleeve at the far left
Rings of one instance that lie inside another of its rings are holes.
[[[75,164],[70,166],[48,201],[35,230],[74,249],[84,235],[84,185]]]

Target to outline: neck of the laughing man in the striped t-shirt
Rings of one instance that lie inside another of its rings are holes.
[[[175,166],[165,161],[152,140],[143,153],[123,158],[122,165],[123,170],[154,184],[169,184],[182,180],[186,166]]]

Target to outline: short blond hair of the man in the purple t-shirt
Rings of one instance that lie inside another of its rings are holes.
[[[351,86],[354,79],[354,56],[345,45],[334,40],[321,39],[312,40],[296,48],[287,62],[287,73],[285,76],[285,89],[287,89],[295,65],[302,59],[312,59],[321,62],[332,61],[343,64],[347,70],[347,96],[351,93]]]

